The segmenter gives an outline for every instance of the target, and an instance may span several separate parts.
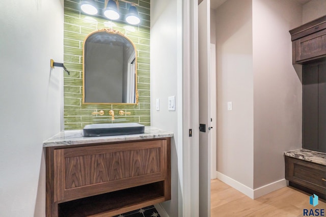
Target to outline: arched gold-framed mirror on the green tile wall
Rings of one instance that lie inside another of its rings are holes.
[[[113,29],[100,29],[84,41],[83,103],[134,104],[137,57],[133,43]]]

